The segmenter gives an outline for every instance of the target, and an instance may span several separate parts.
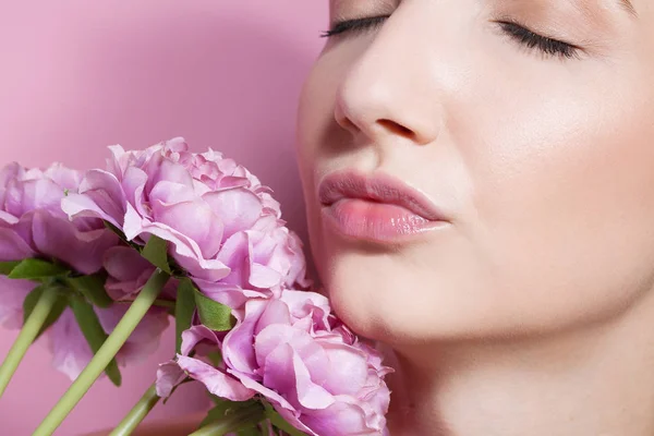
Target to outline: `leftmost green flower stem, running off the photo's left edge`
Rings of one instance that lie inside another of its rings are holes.
[[[44,290],[44,293],[38,299],[32,314],[29,314],[29,317],[27,317],[25,325],[21,329],[16,341],[11,347],[11,350],[9,350],[7,358],[4,358],[4,362],[2,362],[2,366],[0,366],[0,397],[2,397],[4,389],[7,389],[11,377],[16,372],[27,349],[38,336],[48,315],[52,311],[52,306],[57,302],[57,291],[58,289],[56,287],[47,287]]]

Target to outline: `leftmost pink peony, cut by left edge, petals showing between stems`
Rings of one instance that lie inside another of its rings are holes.
[[[81,180],[77,171],[59,164],[45,171],[28,170],[17,164],[0,170],[0,262],[41,257],[66,264],[74,272],[92,275],[104,268],[107,253],[132,252],[119,245],[118,235],[106,229],[100,219],[70,220],[63,213],[62,198],[68,192],[76,192]],[[143,263],[150,267],[150,272],[154,270],[144,259]],[[125,277],[111,276],[111,272],[117,271],[110,270],[109,279],[109,284],[116,288],[132,287],[133,292],[145,284],[138,280],[126,284],[121,281]],[[36,286],[33,281],[0,276],[0,324],[8,328],[22,327],[23,301]],[[109,334],[126,310],[126,304],[114,304],[96,307],[96,313]],[[119,364],[138,361],[153,352],[168,323],[165,311],[150,310],[119,352]],[[72,310],[66,308],[45,336],[51,344],[55,367],[72,379],[77,377],[93,354]]]

